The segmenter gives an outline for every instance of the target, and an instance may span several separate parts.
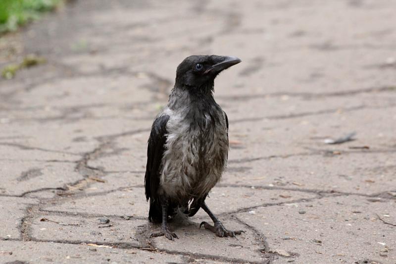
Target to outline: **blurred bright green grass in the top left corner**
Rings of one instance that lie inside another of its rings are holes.
[[[15,31],[19,26],[52,10],[61,0],[0,0],[0,34]]]

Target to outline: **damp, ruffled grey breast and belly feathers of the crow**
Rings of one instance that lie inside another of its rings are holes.
[[[206,195],[220,180],[228,157],[225,116],[220,109],[188,118],[173,113],[167,123],[161,187],[169,197]]]

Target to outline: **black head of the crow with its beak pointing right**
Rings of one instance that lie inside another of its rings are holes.
[[[213,90],[213,81],[223,70],[238,64],[241,59],[234,56],[192,55],[185,58],[176,70],[176,87],[191,91]]]

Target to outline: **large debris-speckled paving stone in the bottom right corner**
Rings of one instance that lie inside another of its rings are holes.
[[[396,260],[395,200],[370,202],[367,197],[326,197],[320,200],[256,209],[237,216],[266,237],[270,249],[282,249],[293,258],[275,256],[274,263],[288,260],[315,263],[393,263]],[[299,214],[300,210],[306,211]],[[386,215],[386,216],[384,216]],[[287,219],[293,218],[293,222]],[[384,254],[387,257],[381,257]]]

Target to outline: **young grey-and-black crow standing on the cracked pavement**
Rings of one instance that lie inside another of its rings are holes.
[[[228,118],[213,98],[214,79],[240,63],[234,56],[192,55],[177,67],[168,105],[155,117],[148,139],[145,174],[149,221],[162,222],[150,237],[178,238],[168,225],[177,212],[191,217],[202,208],[219,237],[234,237],[205,204],[228,158]],[[190,205],[190,207],[189,207]]]

